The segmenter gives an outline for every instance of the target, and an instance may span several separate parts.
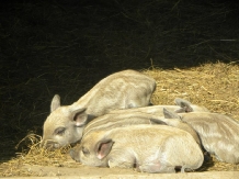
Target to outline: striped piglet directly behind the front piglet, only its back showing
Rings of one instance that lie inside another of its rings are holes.
[[[150,108],[150,107],[148,107]],[[128,126],[128,125],[138,125],[138,124],[155,124],[155,125],[169,125],[183,131],[189,132],[197,144],[201,145],[201,141],[197,136],[197,133],[185,122],[182,122],[180,119],[163,119],[163,110],[159,109],[158,112],[161,115],[155,115],[151,113],[145,112],[130,112],[130,110],[124,110],[122,113],[109,113],[102,116],[99,116],[88,123],[83,130],[82,137],[86,137],[94,131],[104,131],[115,127]]]

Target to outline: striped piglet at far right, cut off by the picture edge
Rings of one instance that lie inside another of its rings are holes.
[[[239,121],[209,112],[167,112],[166,119],[180,119],[190,124],[201,138],[206,152],[220,161],[239,163]],[[163,121],[163,120],[162,120]]]

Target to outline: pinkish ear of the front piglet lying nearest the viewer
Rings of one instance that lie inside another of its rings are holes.
[[[95,146],[98,158],[103,159],[104,157],[106,157],[110,154],[113,144],[114,142],[112,139],[104,139],[98,142]]]

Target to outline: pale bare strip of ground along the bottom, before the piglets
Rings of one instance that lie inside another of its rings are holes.
[[[70,166],[71,167],[65,167]],[[70,157],[61,166],[39,166],[39,165],[27,165],[23,164],[19,170],[21,172],[29,174],[29,176],[37,177],[79,177],[79,178],[156,178],[162,179],[201,179],[201,178],[225,178],[225,179],[237,179],[239,171],[200,171],[200,172],[185,172],[185,174],[146,174],[138,172],[134,169],[122,169],[122,168],[98,168],[83,166],[76,164]],[[11,176],[9,176],[11,177]]]

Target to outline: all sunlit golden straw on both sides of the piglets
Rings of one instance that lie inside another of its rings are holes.
[[[184,98],[192,103],[204,105],[212,112],[224,113],[239,120],[239,65],[205,64],[190,69],[174,68],[162,70],[151,66],[143,70],[157,80],[157,90],[152,96],[155,104],[173,104],[174,98]],[[67,161],[69,147],[55,152],[38,147],[41,136],[29,134],[20,143],[26,143],[29,149],[0,166],[0,176],[36,176],[33,171],[22,171],[21,166],[42,165],[58,167],[80,167]],[[214,157],[198,171],[238,171],[239,165],[219,163]]]

